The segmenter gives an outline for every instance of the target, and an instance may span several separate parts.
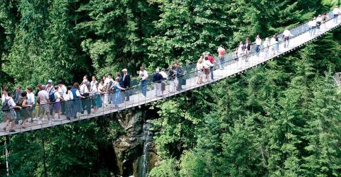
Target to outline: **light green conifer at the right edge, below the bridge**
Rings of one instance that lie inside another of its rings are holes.
[[[341,172],[340,96],[331,76],[315,79],[304,138],[303,171],[307,176],[339,176]]]

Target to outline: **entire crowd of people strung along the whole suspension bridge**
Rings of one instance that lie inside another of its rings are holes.
[[[340,8],[333,9],[333,21],[337,23],[337,16],[341,13]],[[320,33],[320,25],[324,25],[329,21],[327,13],[314,17],[308,22],[308,30],[310,36]],[[293,35],[289,30],[283,31],[283,47],[289,45],[289,39]],[[261,40],[260,35],[256,35],[255,42],[251,43],[249,38],[245,42],[239,42],[234,55],[237,59],[249,60],[249,54],[252,48],[259,57],[261,49],[264,53],[264,58],[276,55],[279,50],[278,34],[272,36],[271,39],[266,38]],[[213,72],[215,66],[219,69],[224,69],[226,50],[222,45],[217,48],[217,60],[210,52],[204,52],[197,60],[195,73],[197,76],[196,84],[202,84],[205,81],[214,79]],[[53,81],[48,79],[47,84],[38,84],[36,86],[36,93],[33,93],[32,87],[27,87],[26,91],[21,89],[21,86],[16,87],[14,93],[7,89],[2,90],[2,112],[5,119],[3,130],[10,127],[10,132],[15,132],[14,127],[16,122],[22,128],[26,128],[27,122],[38,121],[38,125],[43,123],[45,117],[52,125],[54,120],[61,120],[61,115],[65,115],[67,119],[77,118],[77,115],[87,113],[96,113],[99,108],[108,105],[114,105],[114,108],[119,108],[119,104],[124,101],[129,101],[133,94],[131,89],[131,76],[127,69],[122,69],[122,73],[117,72],[113,78],[112,74],[107,76],[92,76],[89,81],[88,76],[84,76],[82,83],[75,82],[72,86],[65,86],[63,81],[58,81],[53,86]],[[186,84],[186,79],[183,79],[183,69],[178,60],[175,60],[169,67],[168,71],[162,68],[156,69],[152,75],[152,82],[154,86],[154,96],[163,96],[166,91],[166,81],[169,82],[169,93],[181,91],[182,86]],[[146,98],[148,86],[148,72],[144,67],[140,67],[139,81],[141,87],[141,98]],[[57,116],[57,118],[55,118]],[[18,121],[16,121],[18,120]],[[10,125],[10,126],[9,126]]]

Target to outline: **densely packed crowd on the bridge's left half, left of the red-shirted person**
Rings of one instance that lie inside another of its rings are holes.
[[[26,128],[27,122],[38,121],[38,125],[43,124],[45,118],[53,125],[55,120],[62,120],[61,115],[67,119],[77,118],[77,115],[96,113],[99,108],[119,104],[129,101],[133,89],[131,89],[131,76],[127,69],[117,72],[114,79],[112,74],[101,76],[99,81],[97,76],[92,76],[89,81],[88,76],[84,76],[82,83],[75,82],[72,86],[65,86],[63,81],[58,81],[53,86],[53,81],[48,79],[47,84],[38,84],[36,93],[32,87],[27,87],[25,91],[21,86],[16,87],[12,92],[2,89],[2,113],[5,125],[3,130],[10,127],[10,132],[15,132],[14,127],[18,122],[21,128]],[[163,96],[166,90],[166,80],[170,85],[170,92],[182,90],[183,72],[177,60],[173,62],[171,69],[166,73],[166,69],[156,69],[153,74],[153,84],[155,96]],[[148,72],[144,67],[140,67],[139,80],[141,83],[141,100],[146,98],[148,86]],[[9,126],[11,125],[11,126]]]

